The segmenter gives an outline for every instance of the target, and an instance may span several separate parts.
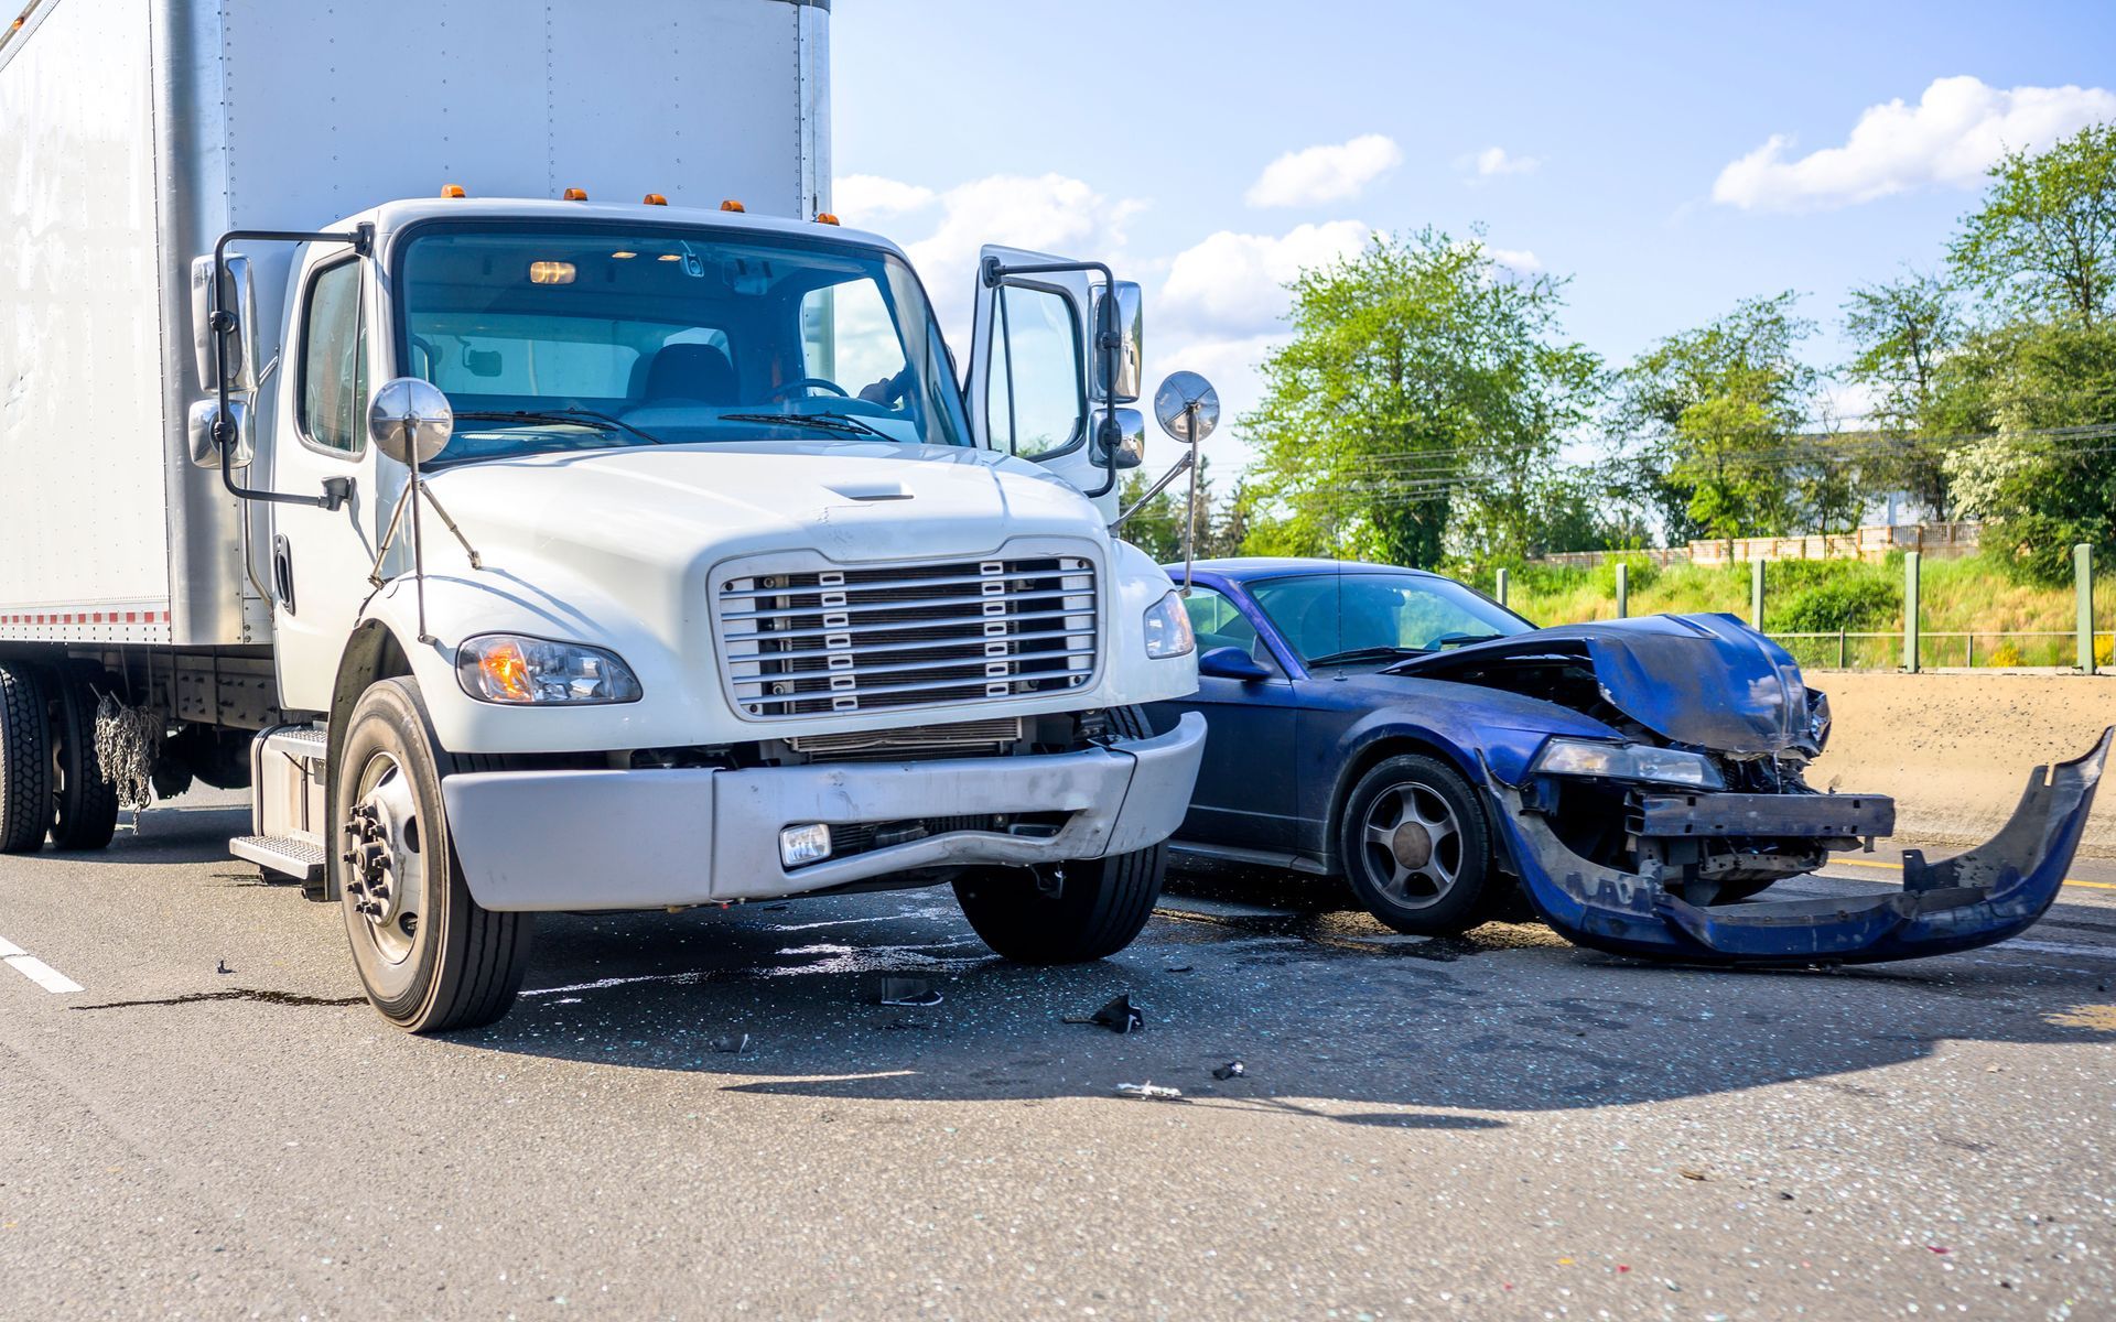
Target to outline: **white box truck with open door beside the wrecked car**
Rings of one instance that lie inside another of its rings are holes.
[[[963,377],[829,216],[825,0],[36,0],[0,38],[0,850],[248,787],[375,1007],[533,914],[952,884],[1124,948],[1204,730],[1136,286]],[[150,789],[152,787],[152,789]]]

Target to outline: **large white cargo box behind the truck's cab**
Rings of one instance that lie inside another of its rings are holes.
[[[271,639],[241,501],[184,459],[222,233],[444,184],[827,212],[827,32],[789,0],[32,6],[0,44],[0,641]],[[292,254],[250,260],[271,345]]]

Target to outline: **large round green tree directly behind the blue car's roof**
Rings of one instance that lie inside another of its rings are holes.
[[[1587,419],[1600,362],[1559,338],[1564,281],[1515,277],[1479,239],[1375,235],[1291,286],[1293,341],[1240,419],[1255,495],[1280,514],[1251,550],[1437,565],[1449,529],[1534,541],[1524,495]]]

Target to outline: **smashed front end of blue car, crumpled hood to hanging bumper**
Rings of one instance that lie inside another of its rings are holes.
[[[1945,861],[1902,852],[1902,886],[1752,899],[1832,850],[1894,831],[1885,795],[1820,793],[1803,774],[1828,700],[1731,616],[1543,628],[1416,656],[1394,675],[1566,706],[1606,736],[1553,734],[1490,755],[1502,852],[1564,937],[1701,965],[1877,962],[2004,941],[2057,897],[2110,749],[2036,768],[2004,829]]]

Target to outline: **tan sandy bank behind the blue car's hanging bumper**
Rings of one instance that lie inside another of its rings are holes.
[[[2078,757],[2116,726],[2116,677],[1811,675],[1837,721],[1809,770],[1816,789],[1896,795],[1896,831],[1978,844],[2012,814],[2029,768]],[[2082,855],[2116,857],[2103,787]]]

